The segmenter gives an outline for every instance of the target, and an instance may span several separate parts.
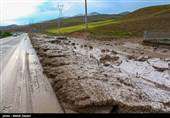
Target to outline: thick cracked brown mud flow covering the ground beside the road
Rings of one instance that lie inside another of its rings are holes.
[[[66,113],[170,112],[170,50],[33,35]]]

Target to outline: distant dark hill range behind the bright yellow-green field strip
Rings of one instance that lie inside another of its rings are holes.
[[[105,21],[115,18],[120,18],[124,16],[125,14],[128,14],[129,12],[124,12],[122,14],[100,14],[97,12],[89,14],[88,21],[89,22],[98,22],[98,21]],[[62,27],[70,27],[70,26],[76,26],[81,25],[84,23],[84,16],[74,16],[69,18],[62,18]],[[47,29],[56,29],[57,28],[57,20],[50,20],[45,21],[42,23],[36,23],[32,25],[26,25],[26,26],[18,26],[17,28],[11,29],[11,31],[25,31],[29,32],[31,30],[36,30],[37,32],[46,32]]]

